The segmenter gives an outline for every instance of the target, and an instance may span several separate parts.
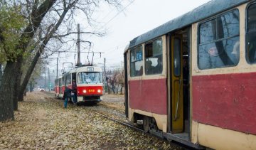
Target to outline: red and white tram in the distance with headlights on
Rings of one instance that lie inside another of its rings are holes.
[[[101,102],[103,95],[101,68],[82,66],[63,73],[61,77],[55,79],[55,96],[62,98],[65,87],[73,89],[74,84],[77,87],[76,96],[78,102]]]

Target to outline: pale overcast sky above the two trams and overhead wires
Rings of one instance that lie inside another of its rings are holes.
[[[108,67],[121,65],[124,48],[133,38],[161,26],[173,18],[186,14],[208,1],[210,0],[130,0],[124,2],[125,9],[122,12],[109,6],[102,6],[92,16],[100,23],[100,25],[94,26],[93,30],[107,31],[107,35],[101,38],[95,36],[83,36],[81,38],[92,41],[92,51],[102,52],[101,57],[100,54],[95,53],[94,63],[103,64],[104,58],[106,58]],[[81,28],[86,27],[82,19],[79,22]],[[81,50],[85,50],[84,47],[81,45]],[[87,53],[81,54],[83,64],[85,59],[87,60],[87,55]],[[89,59],[92,59],[92,54],[89,55]],[[62,64],[67,60],[75,63],[74,54],[71,54],[69,58],[60,59],[60,63]]]

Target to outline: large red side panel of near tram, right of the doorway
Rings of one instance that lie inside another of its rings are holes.
[[[193,77],[193,119],[256,134],[256,73]]]

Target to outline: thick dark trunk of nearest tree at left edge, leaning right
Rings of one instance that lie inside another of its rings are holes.
[[[32,11],[32,22],[28,24],[23,33],[20,36],[20,42],[16,49],[21,49],[23,52],[33,38],[36,29],[40,25],[43,17],[48,10],[53,6],[56,0],[46,0],[38,9]],[[26,40],[24,40],[26,39]],[[18,109],[18,92],[20,91],[21,84],[21,63],[22,55],[18,56],[15,62],[8,61],[2,77],[0,87],[0,121],[7,119],[14,119],[14,109]]]

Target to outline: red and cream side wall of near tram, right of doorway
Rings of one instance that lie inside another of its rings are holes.
[[[235,65],[198,68],[197,35],[200,26],[199,23],[193,24],[191,139],[212,149],[256,148],[256,66],[247,63],[245,58],[246,23],[242,18],[246,16],[246,4],[237,9],[240,13],[240,37],[237,38],[240,60]],[[228,48],[225,50],[229,53]],[[235,43],[230,50],[235,50]],[[213,48],[206,50],[209,55],[212,51]]]

